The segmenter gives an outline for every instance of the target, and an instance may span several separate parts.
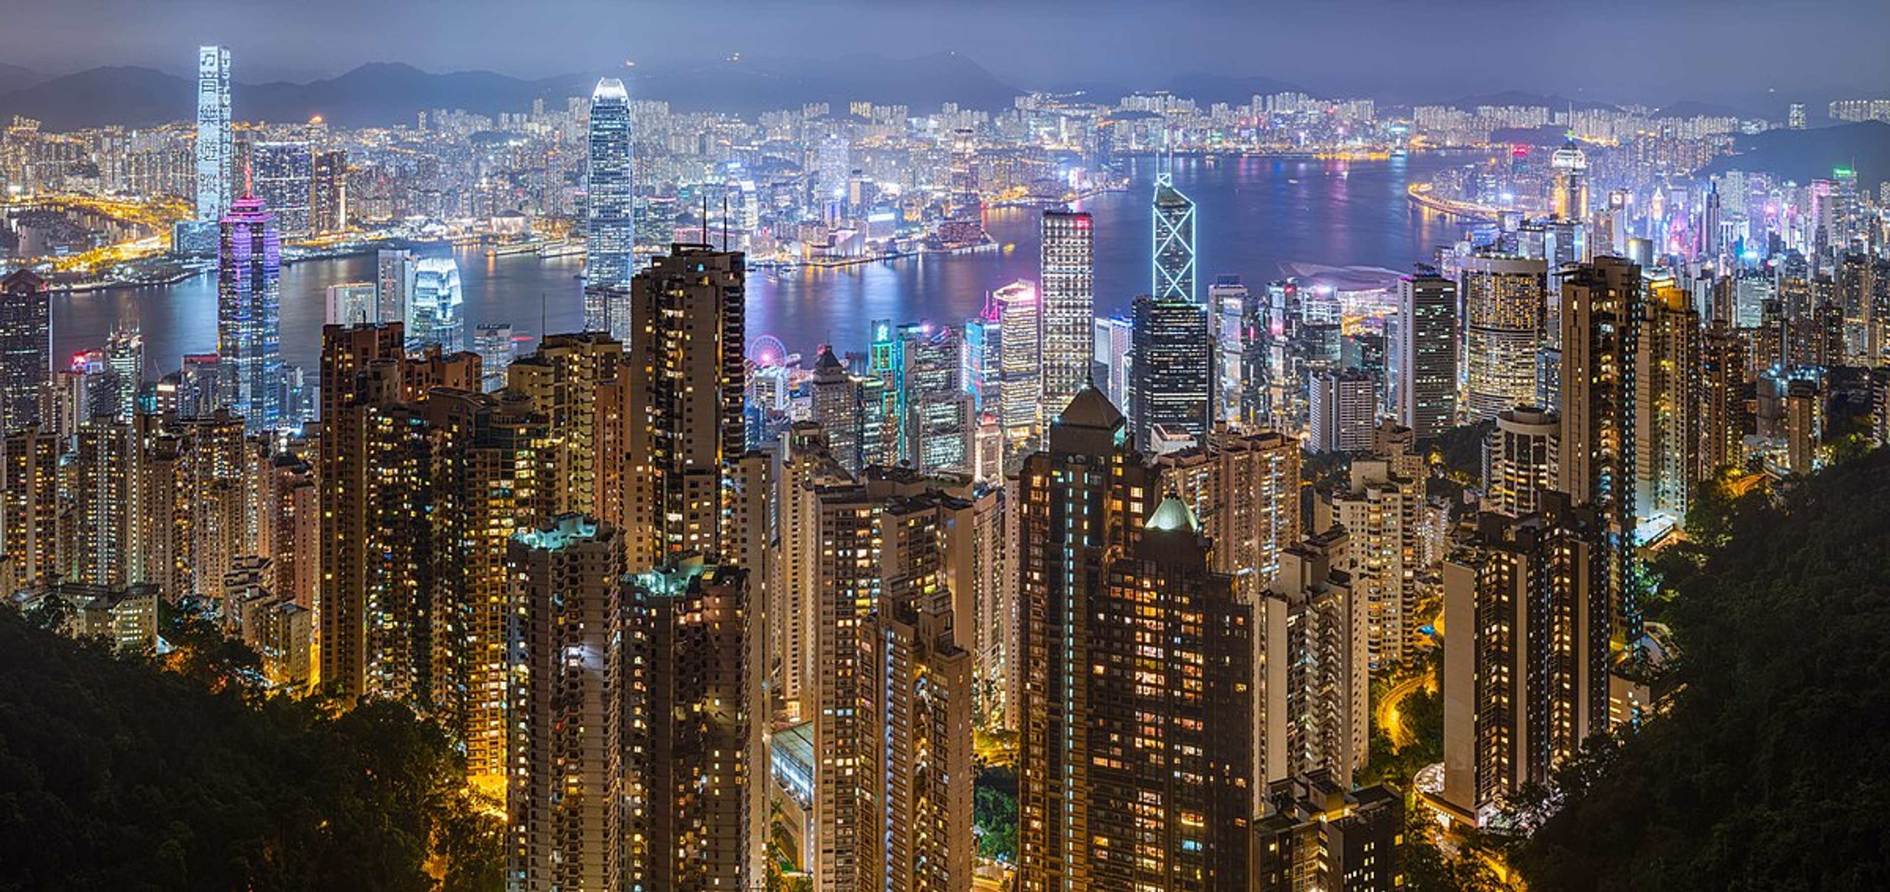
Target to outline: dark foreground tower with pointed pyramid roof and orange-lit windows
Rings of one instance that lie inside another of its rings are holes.
[[[1104,571],[1134,544],[1157,472],[1128,425],[1085,387],[1049,425],[1019,482],[1019,890],[1089,888],[1096,875],[1091,769],[1121,741],[1091,737],[1091,622]],[[1126,646],[1109,637],[1108,646]],[[1111,816],[1106,816],[1111,818]],[[1113,816],[1121,820],[1121,816]]]

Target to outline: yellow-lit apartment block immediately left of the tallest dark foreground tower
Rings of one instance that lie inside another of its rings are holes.
[[[507,386],[524,393],[550,425],[544,448],[550,512],[595,516],[603,505],[610,469],[599,414],[610,403],[599,399],[599,387],[618,380],[622,361],[624,344],[609,334],[546,334],[537,352],[507,369]]]

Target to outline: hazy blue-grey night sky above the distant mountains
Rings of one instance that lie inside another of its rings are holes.
[[[1266,76],[1327,94],[1525,89],[1612,102],[1890,91],[1890,0],[6,0],[6,62],[180,72],[231,45],[238,77],[361,62],[512,76],[730,53],[960,51],[1017,87]],[[1777,94],[1767,94],[1777,91]]]

